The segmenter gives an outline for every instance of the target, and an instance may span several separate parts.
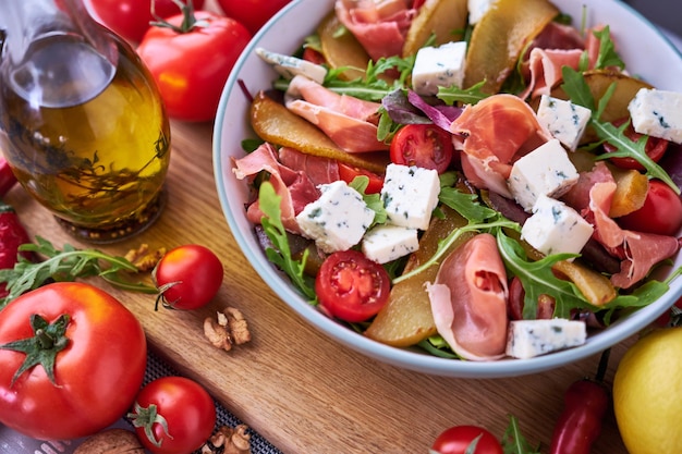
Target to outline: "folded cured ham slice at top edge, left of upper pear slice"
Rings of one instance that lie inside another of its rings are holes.
[[[337,0],[339,21],[373,60],[402,54],[416,10],[406,0]]]

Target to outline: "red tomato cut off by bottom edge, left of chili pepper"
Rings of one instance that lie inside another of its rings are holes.
[[[476,442],[474,451],[467,451]],[[439,454],[503,454],[502,445],[492,433],[476,426],[455,426],[446,429],[431,450]]]

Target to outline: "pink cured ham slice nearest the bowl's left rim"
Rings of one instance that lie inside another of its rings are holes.
[[[300,233],[296,214],[310,201],[319,198],[319,189],[310,177],[303,171],[295,171],[282,165],[277,159],[277,150],[270,144],[264,144],[255,151],[243,158],[233,160],[234,175],[244,180],[256,175],[260,171],[270,174],[270,183],[277,195],[282,198],[281,212],[284,229],[293,233]],[[258,206],[258,200],[246,208],[246,218],[254,224],[260,224],[264,214]]]

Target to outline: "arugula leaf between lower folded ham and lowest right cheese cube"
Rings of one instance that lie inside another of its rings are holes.
[[[521,244],[502,231],[497,234],[497,244],[504,265],[521,280],[525,290],[523,318],[536,318],[537,300],[543,294],[555,298],[555,317],[570,318],[573,308],[590,310],[595,308],[574,283],[557,278],[551,271],[553,263],[575,257],[574,254],[555,254],[537,261],[529,261]]]

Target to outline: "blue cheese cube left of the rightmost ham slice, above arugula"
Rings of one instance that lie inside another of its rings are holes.
[[[594,232],[589,222],[560,200],[540,196],[521,228],[521,238],[545,255],[580,254]]]

